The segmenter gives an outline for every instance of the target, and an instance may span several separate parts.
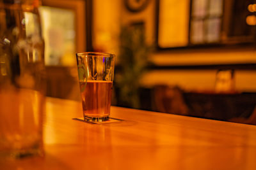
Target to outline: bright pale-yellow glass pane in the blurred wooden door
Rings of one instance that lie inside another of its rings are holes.
[[[75,66],[75,14],[49,6],[40,7],[45,40],[45,65]]]

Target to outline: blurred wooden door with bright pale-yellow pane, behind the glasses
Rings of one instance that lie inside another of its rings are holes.
[[[79,100],[76,52],[92,49],[92,0],[42,0],[47,96]]]

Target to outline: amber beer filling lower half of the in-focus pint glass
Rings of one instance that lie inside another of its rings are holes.
[[[113,89],[112,81],[88,80],[87,83],[79,81],[84,119],[104,118],[108,120]]]

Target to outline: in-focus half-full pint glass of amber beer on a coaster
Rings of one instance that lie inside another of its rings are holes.
[[[84,120],[109,120],[115,55],[111,53],[77,53],[77,70]]]

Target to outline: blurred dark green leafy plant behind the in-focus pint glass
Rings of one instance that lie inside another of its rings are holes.
[[[116,69],[118,103],[131,108],[140,108],[140,80],[147,71],[151,46],[145,42],[143,24],[122,27],[120,54]]]

